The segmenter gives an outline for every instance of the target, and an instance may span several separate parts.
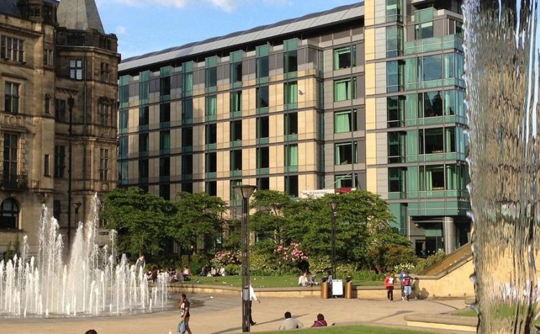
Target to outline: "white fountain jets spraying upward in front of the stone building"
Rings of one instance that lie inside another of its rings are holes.
[[[135,265],[128,264],[125,254],[120,263],[116,263],[115,232],[111,232],[110,248],[99,248],[95,242],[99,206],[96,194],[92,219],[78,225],[69,260],[65,263],[58,222],[43,205],[37,259],[27,258],[25,236],[21,256],[0,261],[0,315],[24,318],[27,315],[100,315],[107,311],[112,313],[113,309],[116,314],[122,314],[166,307],[166,273],[159,274],[157,284],[148,291],[142,268],[135,272]]]

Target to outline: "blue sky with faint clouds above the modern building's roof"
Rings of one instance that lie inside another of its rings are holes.
[[[360,0],[95,0],[122,59]]]

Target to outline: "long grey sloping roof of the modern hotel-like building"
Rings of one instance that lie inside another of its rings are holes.
[[[261,25],[260,27],[254,27],[241,32],[233,32],[225,36],[218,36],[179,47],[146,53],[142,56],[126,58],[120,63],[118,71],[129,71],[150,64],[168,62],[178,58],[207,53],[212,50],[253,43],[257,40],[268,40],[276,36],[324,27],[341,21],[350,21],[363,16],[363,11],[363,1],[353,3],[352,5],[342,5],[331,10],[307,14],[296,19],[284,20],[270,25]]]

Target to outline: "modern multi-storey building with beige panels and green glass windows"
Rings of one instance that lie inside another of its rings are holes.
[[[121,187],[390,202],[418,254],[469,241],[460,2],[366,0],[128,58]],[[235,211],[231,210],[231,215]]]

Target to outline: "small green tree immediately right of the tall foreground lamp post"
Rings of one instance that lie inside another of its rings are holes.
[[[281,191],[256,191],[251,201],[251,207],[257,210],[249,219],[251,230],[262,239],[272,239],[273,246],[282,244],[282,232],[287,222],[284,210],[292,203],[291,198]]]

